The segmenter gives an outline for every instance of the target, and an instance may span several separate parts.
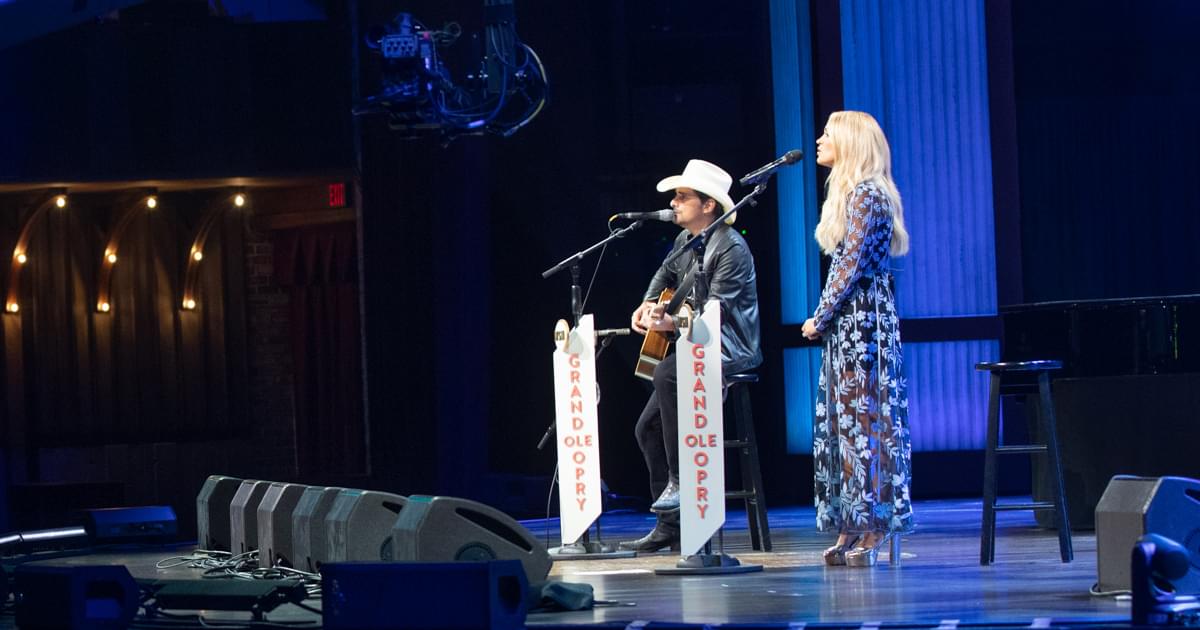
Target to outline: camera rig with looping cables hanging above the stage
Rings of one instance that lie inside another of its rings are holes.
[[[462,28],[450,22],[431,30],[410,13],[370,29],[366,46],[382,58],[380,89],[355,115],[384,113],[404,138],[463,134],[509,137],[546,103],[546,68],[517,37],[512,0],[484,1],[484,55],[479,68],[455,80],[438,50],[454,44]]]

